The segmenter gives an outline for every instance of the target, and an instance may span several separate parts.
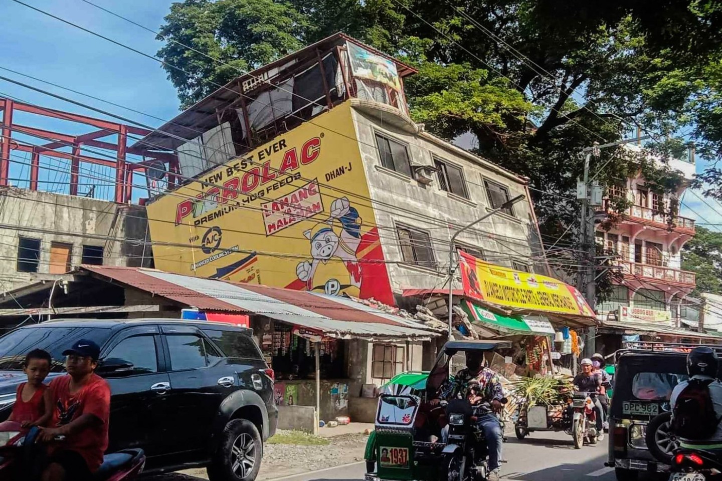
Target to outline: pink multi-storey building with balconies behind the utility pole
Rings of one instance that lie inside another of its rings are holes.
[[[690,150],[686,159],[671,159],[669,167],[691,180],[695,173],[694,151]],[[651,192],[641,176],[628,179],[625,188],[609,189],[608,198],[627,198],[632,206],[616,213],[619,220],[613,229],[597,228],[596,241],[614,256],[612,263],[622,274],[612,296],[597,306],[602,320],[679,325],[680,307],[695,288],[695,273],[681,269],[680,255],[684,244],[695,235],[695,221],[669,216],[670,204],[683,191],[684,187],[672,195],[658,195]],[[611,213],[609,200],[604,201],[603,210]]]

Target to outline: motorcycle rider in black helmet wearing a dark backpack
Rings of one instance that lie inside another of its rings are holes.
[[[690,386],[690,381],[702,381],[703,385],[706,385],[709,397],[711,400],[712,407],[714,409],[713,418],[716,419],[716,429],[714,429],[711,436],[689,438],[685,436],[679,436],[679,445],[686,449],[703,449],[705,451],[712,451],[716,454],[722,454],[722,383],[717,379],[719,360],[717,353],[708,348],[705,345],[697,346],[687,354],[687,374],[690,376],[690,380],[682,381],[672,390],[669,404],[672,410],[672,426],[676,425],[674,419],[675,415],[680,415],[680,412],[675,410],[680,399],[685,397],[683,391]],[[697,410],[699,412],[699,410]],[[712,414],[712,413],[710,413]],[[693,420],[700,420],[701,423],[709,423],[708,426],[713,428],[715,419],[704,420],[705,416],[695,415]],[[695,432],[701,431],[693,429]]]

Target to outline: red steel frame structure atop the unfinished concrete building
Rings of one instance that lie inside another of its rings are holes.
[[[80,172],[80,164],[82,162],[89,164],[99,164],[106,167],[116,169],[115,179],[115,201],[116,203],[129,203],[133,195],[133,172],[139,169],[147,170],[152,167],[154,159],[160,160],[165,165],[168,179],[168,188],[172,189],[178,182],[180,175],[180,167],[178,166],[178,157],[170,151],[153,151],[143,146],[128,146],[128,135],[134,134],[139,136],[147,136],[150,131],[144,128],[133,127],[121,123],[109,122],[99,118],[87,117],[72,112],[64,112],[35,105],[28,105],[22,102],[0,97],[0,187],[9,185],[10,173],[10,152],[13,150],[28,152],[31,154],[30,159],[30,190],[38,190],[38,172],[40,171],[40,155],[56,157],[58,159],[66,159],[71,162],[70,170],[70,195],[78,195],[78,179]],[[28,127],[13,122],[14,112],[27,112],[31,114],[41,115],[46,118],[56,118],[61,120],[69,120],[74,123],[87,125],[90,131],[83,134],[66,134],[53,131],[47,131],[41,128]],[[24,133],[30,136],[51,140],[51,142],[43,145],[28,145],[22,141],[16,141],[12,138],[12,133]],[[116,136],[117,142],[101,141],[100,138],[106,136]],[[72,147],[72,152],[59,151],[63,147]],[[95,156],[87,156],[81,154],[82,146],[93,146],[116,153],[116,159],[100,159]],[[137,154],[144,156],[143,162],[126,162],[127,154]],[[157,166],[157,162],[154,162]],[[155,167],[157,169],[157,167]]]

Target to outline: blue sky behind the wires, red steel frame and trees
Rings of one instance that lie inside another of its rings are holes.
[[[123,19],[113,17],[81,0],[23,1],[150,55],[155,55],[163,45],[155,40],[155,35],[152,33],[131,25]],[[170,4],[173,3],[168,0],[93,1],[153,30],[160,27]],[[160,63],[94,37],[75,27],[65,25],[56,19],[46,17],[12,0],[0,2],[0,45],[4,46],[0,67],[52,81],[118,105],[147,112],[157,118],[170,120],[178,113],[178,97],[176,97],[175,89],[170,81],[166,79],[165,71],[160,67]],[[0,69],[0,76],[17,79],[35,87],[71,97],[79,102],[138,120],[141,123],[149,125],[160,125],[161,123],[156,118],[128,112],[119,107],[69,93],[5,70]],[[82,107],[70,105],[39,92],[32,92],[4,80],[0,80],[0,96],[16,97],[18,100],[45,107],[102,117],[97,112],[84,110]],[[16,115],[14,121],[49,130],[78,133],[77,128],[74,128],[72,124],[58,120],[42,123],[38,117],[32,116],[31,119],[29,115],[22,113]],[[43,143],[37,138],[28,140],[35,144]],[[29,158],[23,154],[18,155],[18,157],[14,157],[17,163],[12,169],[11,177],[25,178],[27,177],[27,166],[23,164],[29,162]],[[64,161],[53,162],[49,167],[54,170],[41,171],[40,180],[48,183],[40,187],[46,190],[53,190],[53,187],[61,189],[61,181],[64,180],[64,176],[66,177],[62,171],[68,169],[67,164]],[[704,167],[704,163],[698,159],[697,172]],[[96,177],[95,183],[98,183],[97,177],[103,178],[111,175],[110,169],[92,167],[92,172],[90,172],[90,167],[88,168],[89,170],[85,172]],[[144,179],[139,177],[136,176],[134,180],[138,185],[144,183]],[[58,183],[53,183],[53,181]],[[19,181],[14,184],[25,186],[23,182]],[[80,187],[80,191],[83,192],[84,187]],[[110,193],[110,185],[100,187],[100,193]],[[683,204],[682,215],[697,219],[699,222],[722,224],[722,205],[715,200],[700,200],[692,192],[687,192],[684,195]],[[722,225],[710,228],[722,231]]]

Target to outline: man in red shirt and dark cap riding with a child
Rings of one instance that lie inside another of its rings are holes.
[[[42,480],[86,481],[108,449],[110,387],[94,372],[100,348],[92,340],[77,341],[63,356],[68,375],[51,381],[53,418],[50,427],[40,428],[40,440],[48,443]]]

